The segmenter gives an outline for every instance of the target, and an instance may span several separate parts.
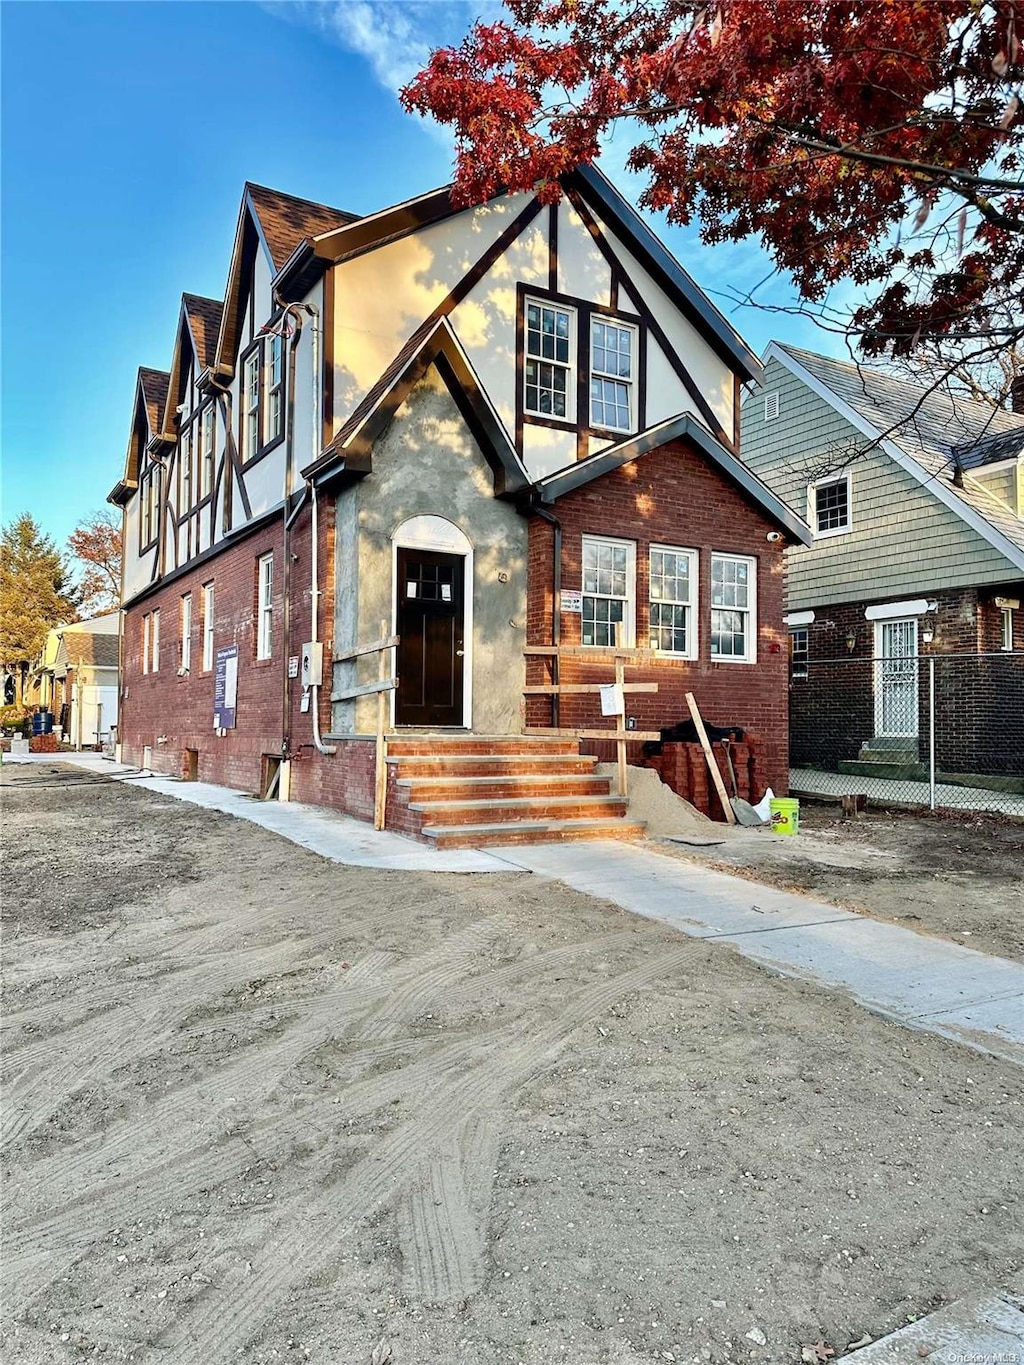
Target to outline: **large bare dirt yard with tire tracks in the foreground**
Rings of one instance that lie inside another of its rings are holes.
[[[1021,1287],[1010,1063],[526,874],[3,785],[5,1362],[799,1362]]]

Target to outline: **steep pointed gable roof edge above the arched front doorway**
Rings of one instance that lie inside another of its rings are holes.
[[[431,364],[494,474],[496,495],[524,489],[528,475],[446,318],[427,319],[412,333],[303,478],[324,485],[369,474],[374,442]]]

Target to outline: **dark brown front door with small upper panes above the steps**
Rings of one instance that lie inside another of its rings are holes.
[[[396,725],[463,723],[466,560],[399,550]]]

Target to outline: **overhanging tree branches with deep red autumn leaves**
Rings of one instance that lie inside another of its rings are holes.
[[[1024,0],[505,7],[401,91],[453,128],[461,202],[557,198],[631,120],[646,207],[759,236],[810,304],[855,281],[866,354],[1020,339]]]

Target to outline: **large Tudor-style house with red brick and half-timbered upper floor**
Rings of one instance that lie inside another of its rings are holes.
[[[612,680],[618,627],[657,650],[638,729],[692,689],[785,789],[782,551],[808,532],[739,459],[759,363],[603,176],[565,190],[356,218],[246,187],[224,303],[183,296],[111,494],[126,759],[370,814],[378,657],[350,651],[384,622],[388,726],[461,774],[431,801],[393,764],[389,823],[539,819],[534,793],[546,833],[598,833],[573,745],[522,734],[601,723],[571,689]],[[527,707],[553,640],[580,647],[567,692]]]

